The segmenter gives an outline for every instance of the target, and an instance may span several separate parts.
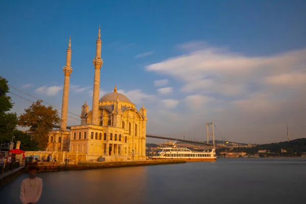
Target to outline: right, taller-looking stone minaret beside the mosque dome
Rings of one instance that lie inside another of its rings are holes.
[[[99,91],[100,91],[100,68],[103,65],[101,59],[101,34],[100,27],[98,32],[98,39],[96,41],[96,57],[92,63],[94,65],[94,82],[93,82],[93,95],[92,95],[92,118],[91,123],[99,125]]]

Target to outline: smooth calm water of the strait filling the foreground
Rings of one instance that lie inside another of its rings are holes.
[[[40,203],[303,203],[306,160],[219,159],[217,162],[40,173]],[[1,203],[20,203],[17,180]]]

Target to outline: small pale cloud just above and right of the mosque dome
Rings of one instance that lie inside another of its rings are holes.
[[[156,96],[143,93],[140,89],[135,89],[131,91],[117,90],[118,93],[125,95],[131,100],[133,104],[141,105],[145,102],[151,102],[156,100]]]

